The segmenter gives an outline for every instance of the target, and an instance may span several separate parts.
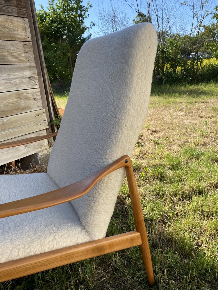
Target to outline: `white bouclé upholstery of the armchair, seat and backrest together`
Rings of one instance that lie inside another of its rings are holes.
[[[0,176],[0,202],[72,184],[131,156],[149,107],[156,48],[150,23],[87,41],[47,173]],[[103,238],[123,177],[122,168],[77,200],[1,219],[0,262]]]

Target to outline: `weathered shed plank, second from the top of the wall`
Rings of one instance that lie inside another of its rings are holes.
[[[0,15],[0,39],[31,41],[28,19]]]

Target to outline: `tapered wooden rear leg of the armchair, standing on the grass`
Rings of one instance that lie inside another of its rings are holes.
[[[141,207],[140,198],[138,195],[138,189],[135,182],[135,176],[134,176],[132,167],[126,168],[126,175],[127,175],[132,209],[133,209],[133,216],[135,220],[135,227],[136,227],[136,231],[140,233],[141,239],[142,239],[142,244],[140,245],[142,259],[144,262],[144,267],[147,274],[149,285],[152,286],[154,284],[154,274],[153,274],[153,267],[152,267],[152,262],[151,262],[151,253],[149,249],[148,237],[147,237],[145,224],[144,224],[142,207]]]

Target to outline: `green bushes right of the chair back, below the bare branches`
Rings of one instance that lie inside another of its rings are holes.
[[[165,84],[217,81],[218,24],[211,23],[194,36],[158,38],[154,76]],[[191,54],[192,53],[192,54]]]

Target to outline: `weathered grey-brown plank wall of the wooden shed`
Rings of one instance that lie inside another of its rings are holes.
[[[49,86],[34,9],[33,0],[0,1],[0,143],[52,131],[51,96],[46,92]],[[0,165],[48,147],[46,139],[2,149]]]

